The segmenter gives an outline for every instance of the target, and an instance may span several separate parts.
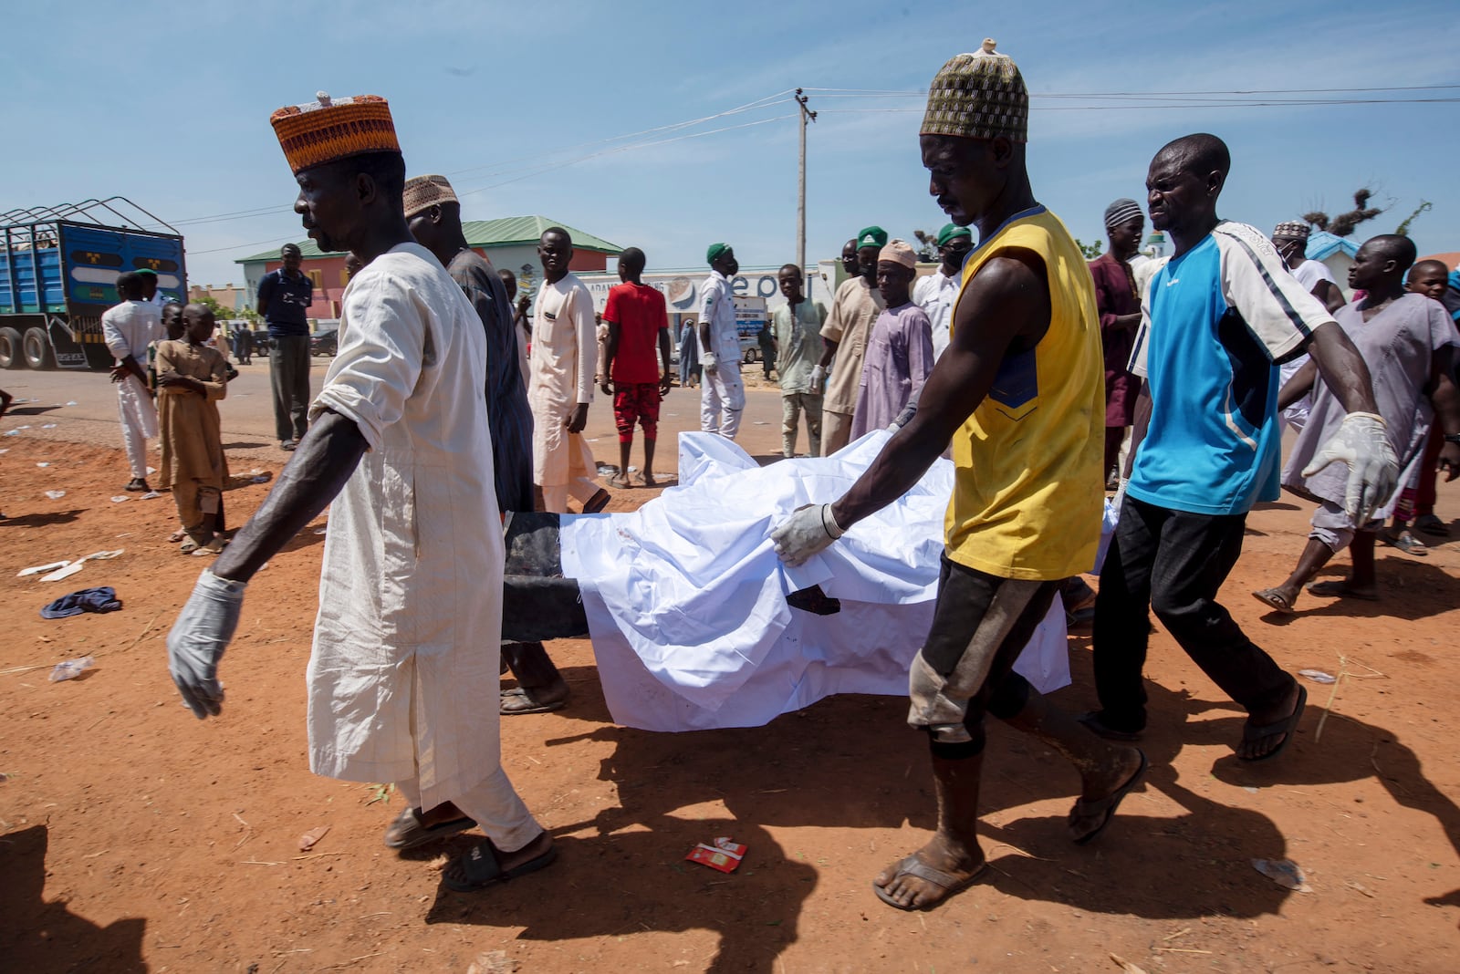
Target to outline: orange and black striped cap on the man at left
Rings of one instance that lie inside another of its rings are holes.
[[[330,98],[286,105],[269,117],[283,157],[295,174],[371,152],[400,152],[390,104],[380,95]]]

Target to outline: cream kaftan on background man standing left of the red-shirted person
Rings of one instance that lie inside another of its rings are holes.
[[[588,289],[574,274],[543,281],[533,303],[527,404],[533,410],[533,480],[555,513],[566,512],[568,494],[581,503],[599,490],[587,440],[564,426],[575,405],[593,402],[597,357]]]

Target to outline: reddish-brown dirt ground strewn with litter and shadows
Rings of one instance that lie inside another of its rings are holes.
[[[1226,605],[1286,668],[1345,672],[1336,696],[1305,684],[1294,747],[1242,765],[1231,749],[1241,714],[1156,633],[1150,776],[1110,831],[1070,844],[1073,771],[996,725],[983,817],[993,869],[927,914],[894,911],[869,888],[933,825],[926,744],[902,700],[838,697],[765,728],[647,733],[610,722],[587,642],[555,643],[571,706],[504,720],[502,751],[561,860],[461,895],[437,868],[469,835],[397,856],[380,840],[399,796],[307,768],[324,521],[250,586],[222,666],[223,714],[199,722],[166,674],[164,636],[203,567],[164,539],[171,499],[112,503],[118,449],[34,433],[0,439],[3,970],[1042,973],[1115,971],[1113,954],[1148,973],[1457,967],[1456,545],[1426,558],[1383,548],[1383,601],[1305,595],[1279,626],[1248,591],[1286,574],[1307,510],[1256,512]],[[750,426],[742,443],[771,452],[778,429]],[[234,467],[277,474],[282,459]],[[239,478],[231,521],[267,490]],[[623,491],[610,510],[656,493]],[[1441,486],[1440,510],[1460,515],[1460,484]],[[63,582],[16,577],[108,548],[124,554]],[[124,608],[39,617],[98,585]],[[1086,636],[1070,637],[1075,685],[1056,696],[1070,710],[1094,703]],[[83,678],[48,682],[55,662],[83,655],[96,663]],[[301,852],[321,825],[328,834]],[[683,862],[717,835],[749,846],[734,875]],[[1296,862],[1311,891],[1276,885],[1253,859]]]

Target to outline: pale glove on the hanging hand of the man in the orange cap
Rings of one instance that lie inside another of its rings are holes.
[[[238,628],[245,588],[247,582],[226,582],[204,570],[168,633],[168,672],[199,720],[216,717],[222,709],[218,661]]]

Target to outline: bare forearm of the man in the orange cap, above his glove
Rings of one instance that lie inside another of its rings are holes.
[[[365,455],[355,420],[326,411],[310,424],[264,503],[213,561],[213,574],[248,582],[345,488]]]

